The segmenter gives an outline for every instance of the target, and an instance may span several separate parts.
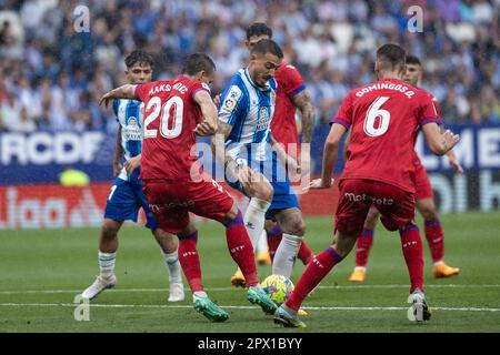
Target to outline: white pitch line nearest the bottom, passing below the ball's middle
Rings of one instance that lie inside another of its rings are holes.
[[[77,307],[81,304],[73,303],[0,303],[6,307]],[[91,307],[99,308],[192,308],[191,305],[166,305],[166,304],[90,304]],[[224,308],[234,310],[259,310],[256,306],[228,306]],[[408,307],[302,307],[308,311],[407,311]],[[451,312],[500,312],[500,308],[484,307],[432,307],[433,311],[451,311]]]

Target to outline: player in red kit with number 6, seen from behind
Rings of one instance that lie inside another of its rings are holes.
[[[422,243],[413,222],[413,141],[420,126],[430,150],[443,155],[457,144],[459,136],[450,131],[442,133],[438,125],[440,118],[428,93],[401,80],[404,59],[401,47],[380,47],[374,64],[379,80],[352,90],[330,121],[321,179],[313,180],[311,189],[332,186],[340,140],[352,125],[348,161],[339,183],[333,242],[308,264],[290,298],[277,310],[278,324],[306,326],[297,311],[318,283],[349,254],[372,205],[381,213],[386,229],[399,230],[401,236],[411,281],[408,318],[418,322],[430,318],[423,293]]]

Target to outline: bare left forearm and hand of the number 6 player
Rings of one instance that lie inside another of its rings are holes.
[[[340,140],[346,128],[342,124],[333,123],[330,128],[327,141],[324,142],[323,150],[323,168],[321,171],[321,178],[311,181],[310,189],[328,189],[333,185],[333,179],[331,178],[333,168],[336,166],[337,153],[339,151]]]

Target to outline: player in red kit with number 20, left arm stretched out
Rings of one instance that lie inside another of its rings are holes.
[[[274,303],[259,284],[252,244],[242,214],[232,197],[208,176],[191,154],[196,135],[217,131],[217,108],[210,98],[216,64],[204,53],[187,58],[182,75],[168,81],[123,85],[104,94],[111,99],[137,99],[144,103],[144,139],[140,179],[151,212],[161,229],[179,237],[179,261],[193,293],[194,310],[212,322],[223,322],[229,314],[204,292],[198,231],[190,224],[189,212],[226,226],[231,257],[243,272],[249,286],[247,298],[266,313]]]

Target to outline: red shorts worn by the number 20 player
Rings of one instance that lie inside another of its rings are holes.
[[[231,195],[214,180],[149,180],[142,191],[160,227],[172,234],[189,223],[189,212],[217,219],[223,217],[233,205]]]

